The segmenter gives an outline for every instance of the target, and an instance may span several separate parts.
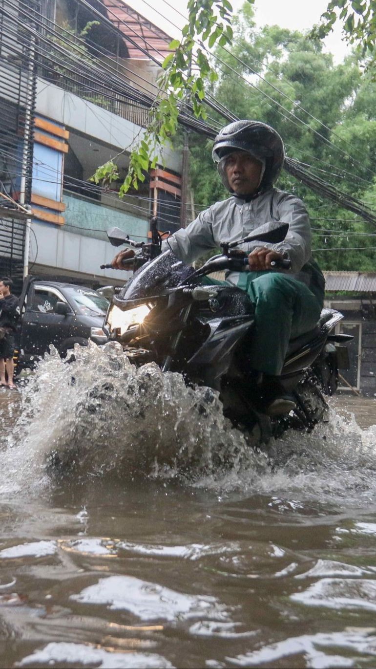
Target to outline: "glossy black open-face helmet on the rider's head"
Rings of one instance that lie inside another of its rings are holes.
[[[232,151],[247,151],[265,165],[260,189],[271,186],[278,177],[284,163],[282,138],[270,126],[260,121],[241,120],[222,128],[214,140],[211,156],[217,164],[221,179],[231,192],[223,159]]]

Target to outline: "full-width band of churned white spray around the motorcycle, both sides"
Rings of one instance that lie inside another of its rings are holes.
[[[376,498],[376,426],[362,430],[331,411],[311,434],[273,440],[271,465],[223,417],[211,389],[187,387],[154,363],[137,369],[115,343],[76,347],[75,356],[67,364],[52,349],[23,390],[0,452],[0,494],[110,472],[124,482],[179,478],[215,492],[266,494],[288,513],[305,500],[365,508]]]

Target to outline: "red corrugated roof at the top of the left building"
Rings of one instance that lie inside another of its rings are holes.
[[[122,0],[103,0],[103,3],[108,9],[108,18],[125,37],[129,58],[145,60],[147,56],[141,51],[141,48],[143,48],[162,63],[166,56],[171,53],[168,46],[172,37],[169,37],[167,33],[145,19],[138,11],[126,5]],[[140,48],[126,39],[127,37],[136,42],[136,45]]]

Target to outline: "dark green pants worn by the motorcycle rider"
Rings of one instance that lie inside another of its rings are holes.
[[[203,283],[232,285],[207,276]],[[290,339],[314,328],[322,304],[306,284],[281,272],[242,272],[238,288],[246,290],[255,310],[250,365],[278,376]]]

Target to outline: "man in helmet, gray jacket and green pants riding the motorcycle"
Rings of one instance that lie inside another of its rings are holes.
[[[242,244],[239,248],[248,254],[248,266],[225,276],[227,283],[245,290],[254,305],[249,364],[258,408],[268,415],[283,415],[294,408],[279,381],[288,343],[314,328],[324,300],[324,277],[311,257],[308,214],[300,199],[273,187],[284,163],[284,144],[270,126],[254,120],[225,126],[215,137],[212,156],[231,197],[175,232],[163,242],[163,251],[170,248],[179,260],[191,264],[220,242],[240,240],[260,225],[289,223],[280,244]],[[122,260],[133,254],[120,252],[112,267],[123,269]],[[272,262],[283,259],[290,260],[291,269],[274,270]],[[207,282],[218,283],[205,278]]]

